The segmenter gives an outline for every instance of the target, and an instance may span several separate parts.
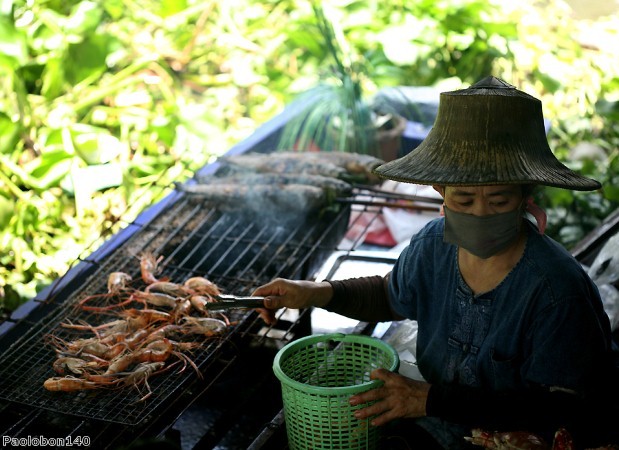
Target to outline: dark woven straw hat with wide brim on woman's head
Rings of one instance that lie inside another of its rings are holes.
[[[408,155],[377,167],[383,178],[445,186],[541,184],[599,189],[554,156],[542,103],[495,77],[443,92],[434,127]]]

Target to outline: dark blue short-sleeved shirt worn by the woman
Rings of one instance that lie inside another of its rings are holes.
[[[400,255],[389,298],[397,313],[418,321],[417,362],[429,383],[582,392],[595,379],[591,372],[610,345],[597,288],[572,255],[525,224],[518,264],[496,288],[477,295],[460,274],[457,247],[443,242],[443,218]],[[458,448],[470,432],[438,418],[420,424],[446,448]]]

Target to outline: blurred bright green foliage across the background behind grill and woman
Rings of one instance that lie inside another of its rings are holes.
[[[540,98],[557,157],[604,185],[540,194],[547,233],[568,248],[619,205],[616,6],[323,3],[369,94],[457,89],[493,74]],[[310,0],[0,0],[2,314],[329,64]]]

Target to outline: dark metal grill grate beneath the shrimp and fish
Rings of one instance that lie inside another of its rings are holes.
[[[56,375],[52,370],[55,353],[44,344],[45,337],[54,334],[73,340],[78,336],[77,331],[60,327],[61,322],[97,325],[109,321],[109,316],[88,313],[75,305],[88,295],[106,292],[111,272],[123,271],[139,280],[138,258],[146,252],[164,257],[161,275],[171,281],[205,276],[222,291],[235,294],[249,294],[275,277],[305,278],[337,246],[346,231],[349,212],[349,208],[342,208],[337,213],[296,224],[287,220],[282,225],[277,218],[267,217],[248,222],[243,214],[224,213],[199,197],[181,197],[110,253],[81,289],[59,299],[60,306],[11,346],[2,356],[0,398],[126,425],[149,420],[160,405],[195,381],[191,368],[153,377],[149,380],[153,395],[143,402],[137,402],[142,395],[131,387],[48,392],[43,382]],[[201,371],[214,363],[226,346],[233,345],[235,335],[249,330],[250,316],[251,312],[231,313],[230,320],[236,325],[223,336],[207,339],[191,354]]]

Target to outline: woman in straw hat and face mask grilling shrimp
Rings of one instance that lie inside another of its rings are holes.
[[[424,142],[376,172],[433,185],[445,217],[411,239],[385,278],[258,288],[266,320],[281,307],[315,306],[365,321],[418,321],[427,382],[377,370],[384,385],[350,399],[376,401],[358,417],[389,423],[386,434],[411,447],[465,448],[472,428],[527,430],[551,442],[567,427],[580,445],[607,444],[597,439],[608,439],[600,422],[608,414],[589,419],[602,411],[594,402],[610,376],[608,317],[580,264],[543,234],[530,197],[535,185],[600,185],[554,157],[539,100],[493,77],[443,93]]]

